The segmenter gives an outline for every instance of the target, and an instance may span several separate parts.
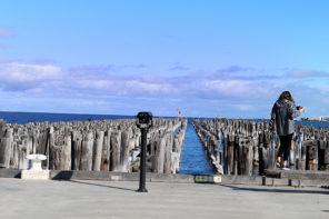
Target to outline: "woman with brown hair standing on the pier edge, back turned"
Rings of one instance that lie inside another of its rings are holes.
[[[280,138],[280,148],[277,161],[283,169],[288,169],[288,157],[295,132],[293,119],[299,117],[299,115],[303,111],[303,108],[296,107],[295,100],[289,91],[283,91],[272,108],[269,128],[271,131],[275,130],[275,127],[277,128],[277,133]]]

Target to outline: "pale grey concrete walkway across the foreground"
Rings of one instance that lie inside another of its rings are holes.
[[[0,179],[0,218],[329,218],[320,188]]]

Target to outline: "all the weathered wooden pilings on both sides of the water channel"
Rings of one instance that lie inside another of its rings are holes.
[[[188,120],[153,119],[147,171],[179,173]],[[275,169],[279,138],[265,120],[195,119],[216,173],[255,176]],[[141,133],[134,119],[6,123],[0,120],[0,168],[27,169],[27,156],[47,156],[50,170],[139,171]],[[329,171],[329,128],[296,126],[289,156],[295,170]]]

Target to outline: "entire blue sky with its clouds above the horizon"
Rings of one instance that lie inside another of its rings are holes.
[[[329,1],[2,0],[0,111],[329,116]]]

